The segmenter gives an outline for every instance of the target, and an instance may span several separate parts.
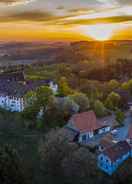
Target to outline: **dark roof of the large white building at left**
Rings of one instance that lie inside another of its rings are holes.
[[[28,91],[36,90],[43,85],[49,85],[51,80],[26,81],[23,71],[0,74],[0,95],[23,97]]]

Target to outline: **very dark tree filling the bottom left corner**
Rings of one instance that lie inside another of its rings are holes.
[[[24,169],[19,156],[10,145],[0,147],[0,183],[26,184]]]

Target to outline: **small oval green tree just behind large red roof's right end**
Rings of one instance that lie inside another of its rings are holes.
[[[100,100],[95,101],[94,111],[98,117],[103,117],[107,114],[106,108]]]

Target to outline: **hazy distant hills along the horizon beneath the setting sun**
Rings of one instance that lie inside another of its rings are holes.
[[[132,41],[0,42],[0,66],[132,60]]]

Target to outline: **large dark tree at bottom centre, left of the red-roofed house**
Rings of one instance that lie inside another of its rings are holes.
[[[45,136],[45,140],[41,141],[39,153],[41,157],[42,172],[48,180],[55,183],[62,177],[62,160],[66,155],[77,149],[76,144],[69,144],[65,129],[52,129]],[[50,183],[51,183],[50,182]]]

